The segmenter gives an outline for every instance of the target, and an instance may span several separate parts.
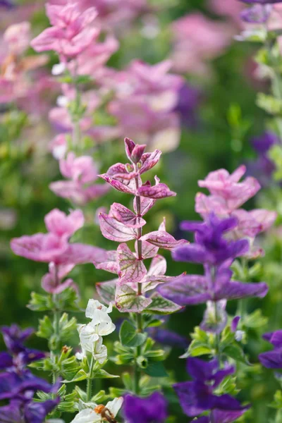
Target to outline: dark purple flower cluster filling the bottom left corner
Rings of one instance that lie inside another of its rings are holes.
[[[26,368],[27,364],[42,359],[44,354],[25,347],[25,340],[33,329],[21,331],[16,325],[3,326],[8,353],[0,355],[0,400],[8,400],[8,405],[0,407],[1,422],[43,423],[45,417],[59,403],[59,398],[37,402],[35,393],[56,393],[58,386],[51,386],[44,379],[34,376]]]

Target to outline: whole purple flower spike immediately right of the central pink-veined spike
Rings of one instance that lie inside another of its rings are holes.
[[[247,240],[228,240],[224,234],[237,226],[235,218],[219,219],[210,214],[204,223],[182,223],[185,231],[195,232],[195,243],[173,250],[173,258],[179,262],[194,262],[204,265],[204,276],[185,275],[160,286],[162,295],[180,305],[195,305],[207,302],[203,327],[220,333],[226,326],[224,312],[226,300],[247,297],[264,297],[266,283],[241,283],[232,281],[229,269],[236,257],[244,255],[249,244]]]

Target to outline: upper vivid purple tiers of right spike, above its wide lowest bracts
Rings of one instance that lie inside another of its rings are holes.
[[[172,252],[177,262],[195,262],[217,266],[228,259],[235,259],[249,249],[247,240],[229,241],[223,234],[238,225],[237,219],[219,219],[215,214],[209,215],[204,223],[183,221],[183,231],[195,232],[195,243],[181,245]]]

